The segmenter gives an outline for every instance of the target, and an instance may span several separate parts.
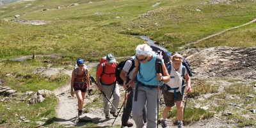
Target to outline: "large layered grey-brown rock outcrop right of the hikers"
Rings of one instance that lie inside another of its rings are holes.
[[[256,47],[212,47],[182,52],[196,77],[256,79]]]

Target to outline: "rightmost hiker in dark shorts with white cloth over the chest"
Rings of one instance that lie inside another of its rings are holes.
[[[163,89],[164,95],[164,103],[165,108],[163,111],[163,119],[161,120],[161,126],[163,128],[168,128],[167,125],[167,116],[169,111],[175,105],[177,107],[177,116],[178,116],[178,128],[183,128],[183,95],[184,90],[186,88],[186,84],[188,86],[187,92],[191,92],[191,80],[189,77],[189,71],[187,68],[182,65],[182,56],[180,54],[173,54],[172,63],[168,66],[168,73],[170,74],[170,81],[166,83]],[[186,84],[185,84],[185,81]]]

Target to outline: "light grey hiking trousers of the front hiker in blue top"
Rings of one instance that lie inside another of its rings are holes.
[[[135,90],[134,90],[134,95],[136,92]],[[160,99],[161,93],[162,93],[162,90],[159,90],[159,95],[158,95],[159,99]],[[132,101],[133,101],[132,102],[132,118],[136,124],[136,127],[137,128],[141,128],[141,127],[156,128],[157,127],[157,88],[150,89],[150,88],[144,88],[139,86],[137,101],[134,101],[134,97]],[[145,104],[147,108],[147,126],[143,122],[143,108]]]

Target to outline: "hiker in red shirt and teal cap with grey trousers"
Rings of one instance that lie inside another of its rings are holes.
[[[97,86],[100,92],[103,92],[106,97],[103,98],[104,114],[106,118],[110,118],[110,114],[118,116],[116,108],[120,101],[120,92],[118,84],[116,84],[115,68],[118,63],[113,54],[106,56],[106,62],[102,63],[96,72]],[[113,106],[109,110],[109,100],[113,96]]]

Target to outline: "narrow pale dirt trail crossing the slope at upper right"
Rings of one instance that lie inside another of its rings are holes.
[[[221,35],[222,33],[225,33],[226,31],[230,31],[230,30],[232,30],[232,29],[240,28],[240,27],[246,26],[246,25],[248,25],[248,24],[252,24],[252,23],[255,22],[255,21],[256,21],[256,19],[253,19],[252,21],[247,22],[246,24],[242,24],[241,26],[236,26],[236,27],[233,27],[233,28],[225,29],[225,30],[223,30],[223,31],[220,31],[220,32],[218,32],[218,33],[215,33],[214,35],[209,35],[209,36],[206,36],[205,38],[201,38],[201,39],[199,39],[199,40],[196,40],[195,42],[190,42],[190,43],[188,43],[187,45],[190,45],[190,44],[197,44],[198,42],[202,42],[203,40],[206,40],[206,39],[208,39],[208,38],[212,38],[213,36]]]

